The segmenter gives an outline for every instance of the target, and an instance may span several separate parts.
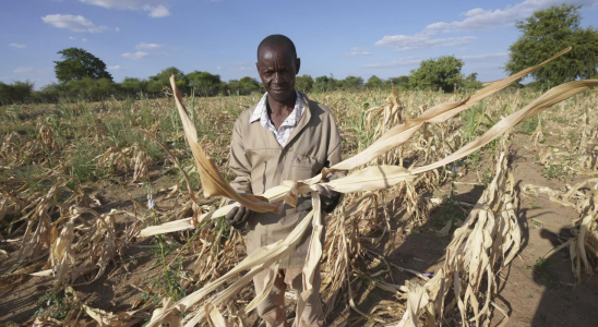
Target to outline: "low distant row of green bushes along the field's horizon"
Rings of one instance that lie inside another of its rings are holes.
[[[0,104],[12,102],[57,102],[60,99],[80,99],[86,101],[98,101],[105,99],[125,99],[125,98],[155,98],[169,93],[169,76],[175,74],[177,86],[186,95],[194,94],[196,97],[206,96],[230,96],[249,95],[251,93],[263,93],[262,83],[253,77],[242,77],[241,80],[230,80],[224,82],[217,74],[208,72],[194,71],[183,74],[176,68],[168,68],[160,73],[151,76],[147,80],[136,77],[125,77],[121,83],[112,82],[110,78],[83,77],[63,83],[52,83],[43,87],[40,90],[34,89],[34,83],[0,82]],[[458,88],[478,88],[481,83],[475,81],[475,74],[468,76],[457,85]],[[409,85],[409,76],[393,77],[387,80],[371,76],[367,82],[362,77],[348,76],[344,80],[336,80],[333,76],[311,77],[310,75],[297,76],[296,88],[310,92],[359,92],[367,89],[391,90],[396,88],[405,90],[409,88],[420,88]]]

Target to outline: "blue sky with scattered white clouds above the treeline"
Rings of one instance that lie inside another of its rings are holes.
[[[419,61],[454,55],[480,81],[505,76],[517,20],[554,4],[578,4],[598,25],[598,0],[242,1],[21,0],[0,11],[0,81],[55,82],[57,51],[81,47],[115,81],[167,66],[258,77],[255,50],[267,35],[290,37],[300,74],[406,75]],[[547,55],[548,56],[548,55]]]

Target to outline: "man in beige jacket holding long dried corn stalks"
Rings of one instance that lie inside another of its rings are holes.
[[[292,41],[283,35],[271,35],[258,47],[258,72],[266,89],[260,102],[244,110],[235,123],[230,143],[229,167],[235,175],[230,183],[239,193],[261,194],[285,180],[309,179],[340,161],[340,136],[331,110],[311,101],[295,89],[295,77],[301,60]],[[330,213],[340,194],[318,187],[322,209]],[[312,209],[309,196],[299,197],[297,207],[285,205],[280,214],[259,214],[244,207],[231,210],[226,220],[236,229],[247,228],[247,252],[284,240]],[[247,227],[246,227],[247,223]],[[266,326],[287,326],[285,290],[302,291],[301,270],[309,249],[311,228],[290,257],[280,263],[272,291],[258,306]],[[323,241],[323,240],[322,240]],[[254,277],[256,292],[265,286],[267,270]],[[313,293],[295,326],[322,326],[320,267],[313,281]]]

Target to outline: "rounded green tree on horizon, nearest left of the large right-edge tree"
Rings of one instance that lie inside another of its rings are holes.
[[[409,86],[420,89],[452,92],[463,81],[463,60],[455,56],[423,60],[417,70],[411,71]]]

